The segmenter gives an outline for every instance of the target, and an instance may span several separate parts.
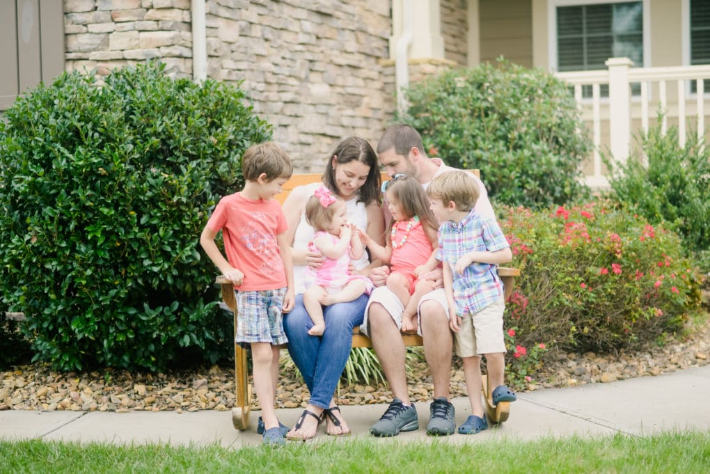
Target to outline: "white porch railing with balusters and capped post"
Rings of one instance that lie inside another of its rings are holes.
[[[629,156],[633,135],[647,132],[650,121],[665,111],[662,131],[669,118],[677,123],[678,140],[684,145],[688,122],[696,126],[698,136],[705,133],[705,118],[710,112],[710,94],[705,94],[703,79],[710,79],[710,65],[680,67],[631,67],[628,57],[611,57],[608,70],[558,72],[555,75],[574,86],[574,98],[582,118],[591,124],[594,155],[585,170],[591,187],[608,187],[601,150],[624,162]],[[692,92],[694,82],[697,92]],[[608,85],[608,97],[601,97],[601,87]],[[639,95],[633,95],[632,84],[640,84]],[[583,97],[583,87],[591,86],[591,98]],[[676,89],[673,97],[672,91]],[[710,92],[710,91],[708,91]],[[603,133],[601,124],[608,123]]]

